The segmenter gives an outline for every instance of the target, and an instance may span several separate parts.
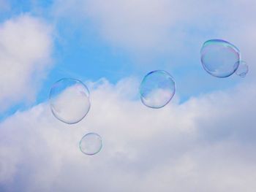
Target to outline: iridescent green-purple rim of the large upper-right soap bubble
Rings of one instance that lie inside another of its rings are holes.
[[[236,53],[236,55],[238,55],[238,61],[234,64],[236,65],[240,60],[241,60],[241,52],[240,50],[238,49],[238,47],[236,47],[236,45],[233,45],[232,43],[230,42],[227,42],[223,39],[209,39],[207,40],[206,42],[203,43],[203,46],[201,47],[201,50],[200,50],[200,61],[201,61],[201,64],[203,66],[203,69],[205,69],[206,72],[208,72],[208,74],[211,74],[212,76],[214,77],[219,77],[219,78],[226,78],[226,77],[230,77],[232,74],[234,74],[236,72],[236,70],[238,69],[239,65],[236,67],[236,69],[231,73],[231,74],[228,74],[228,75],[225,75],[225,76],[217,76],[217,75],[214,75],[212,74],[205,66],[205,64],[203,64],[203,57],[205,55],[205,53],[203,53],[203,49],[205,47],[207,47],[209,44],[212,44],[212,43],[224,43],[225,44],[225,47],[230,47],[231,50],[233,50],[234,53]]]

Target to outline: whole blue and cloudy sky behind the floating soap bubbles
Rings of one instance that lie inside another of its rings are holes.
[[[0,0],[0,191],[255,192],[254,0]],[[225,39],[246,78],[212,77],[208,39]],[[143,77],[169,72],[176,95],[153,110]],[[74,125],[48,96],[71,77],[90,91]],[[102,150],[80,152],[96,132]]]

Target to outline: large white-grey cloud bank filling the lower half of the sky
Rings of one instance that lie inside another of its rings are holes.
[[[255,190],[253,84],[161,110],[135,99],[138,80],[87,85],[91,110],[78,124],[56,120],[47,103],[0,124],[1,191]],[[78,142],[91,131],[103,148],[87,156]]]

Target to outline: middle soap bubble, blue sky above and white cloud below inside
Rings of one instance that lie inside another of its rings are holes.
[[[147,107],[159,109],[175,94],[175,82],[168,72],[157,70],[146,74],[140,84],[140,99]]]

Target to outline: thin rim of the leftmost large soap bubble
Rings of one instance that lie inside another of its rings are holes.
[[[61,81],[63,81],[63,80],[72,80],[72,81],[78,82],[78,83],[80,83],[81,85],[83,85],[83,87],[86,88],[86,91],[88,92],[89,110],[88,110],[88,112],[86,112],[85,115],[83,115],[82,118],[80,118],[80,120],[77,120],[77,121],[75,121],[75,122],[67,122],[67,121],[65,121],[65,120],[62,120],[62,119],[59,118],[59,117],[55,114],[55,112],[53,111],[53,107],[52,107],[52,104],[51,104],[51,101],[52,101],[52,97],[51,97],[52,94],[51,94],[51,93],[52,93],[52,91],[53,91],[53,88],[56,86],[56,84],[59,83],[59,82],[61,82]],[[87,86],[86,86],[82,81],[77,80],[77,79],[75,79],[75,78],[64,77],[64,78],[61,78],[60,80],[57,80],[56,82],[54,82],[53,85],[50,87],[50,92],[49,92],[48,100],[49,100],[50,111],[52,112],[53,116],[54,116],[56,119],[60,120],[61,122],[67,123],[67,124],[69,124],[69,125],[78,123],[78,122],[80,122],[81,120],[83,120],[83,118],[86,117],[86,115],[89,113],[89,111],[90,111],[90,109],[91,109],[91,100],[90,100],[90,91],[89,91],[89,88],[87,88]]]

